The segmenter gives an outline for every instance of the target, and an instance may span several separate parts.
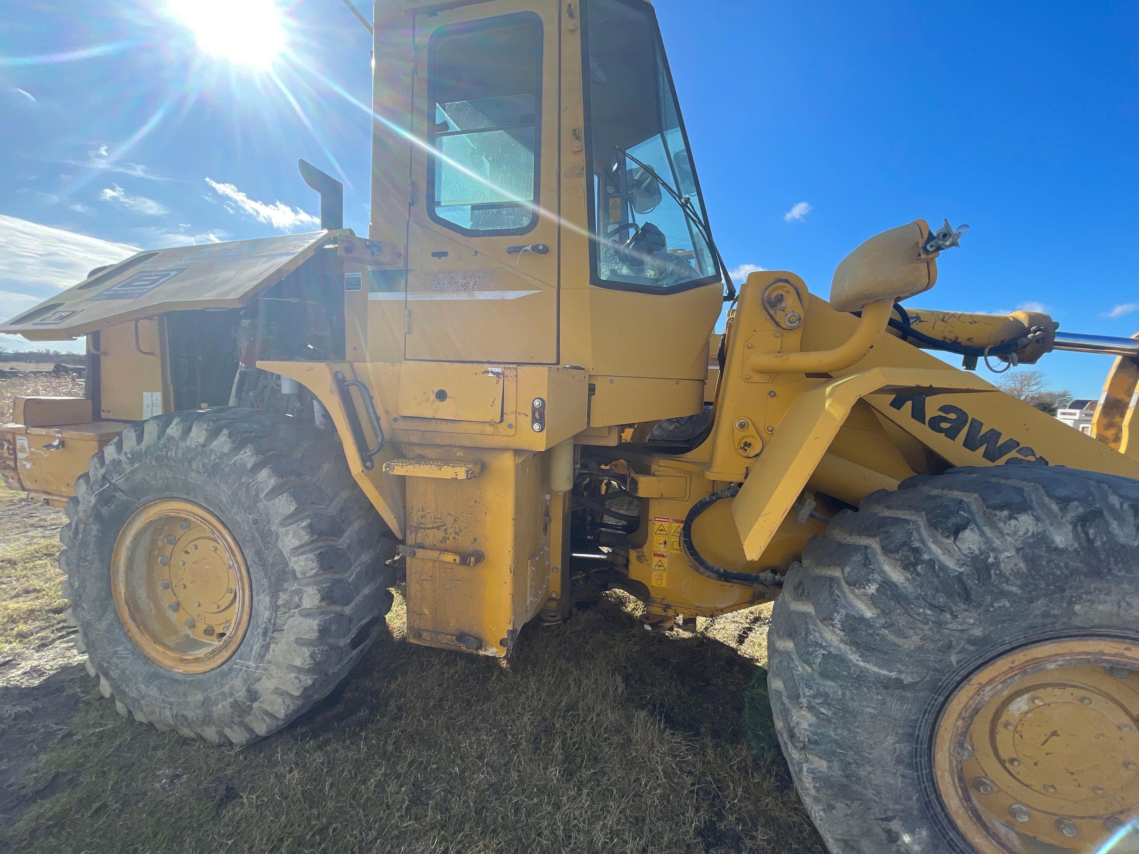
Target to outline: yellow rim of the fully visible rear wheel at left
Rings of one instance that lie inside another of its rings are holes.
[[[230,658],[249,625],[249,573],[229,528],[189,501],[153,501],[115,540],[115,610],[155,664],[205,673]]]

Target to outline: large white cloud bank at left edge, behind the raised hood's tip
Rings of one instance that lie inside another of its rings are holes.
[[[87,278],[97,266],[113,264],[138,249],[97,237],[41,225],[0,214],[0,320]],[[66,342],[32,343],[21,336],[0,335],[9,350],[82,348]]]

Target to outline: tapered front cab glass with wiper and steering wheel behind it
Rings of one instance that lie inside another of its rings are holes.
[[[704,200],[652,8],[589,0],[585,11],[593,279],[654,291],[715,281]]]

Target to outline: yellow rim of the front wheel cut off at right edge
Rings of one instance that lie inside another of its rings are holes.
[[[934,774],[982,854],[1095,851],[1139,815],[1139,643],[1049,641],[981,668],[941,714]]]

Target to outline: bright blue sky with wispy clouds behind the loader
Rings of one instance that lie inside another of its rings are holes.
[[[0,317],[115,244],[312,229],[297,157],[345,181],[346,224],[367,230],[370,122],[336,90],[368,101],[368,34],[338,0],[278,6],[273,76],[205,55],[167,0],[3,3]],[[972,230],[912,305],[1036,304],[1070,331],[1139,330],[1136,5],[656,9],[729,266],[794,270],[826,294],[861,240],[948,216]],[[1038,368],[1096,396],[1109,364]]]

